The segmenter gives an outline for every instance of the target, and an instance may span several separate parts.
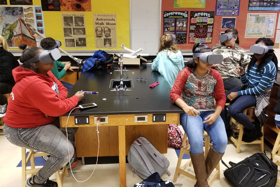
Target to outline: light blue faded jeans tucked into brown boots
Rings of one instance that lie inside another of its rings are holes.
[[[212,141],[212,148],[220,154],[224,154],[227,145],[225,124],[219,116],[217,120],[208,125],[203,123],[205,117],[215,111],[203,111],[197,117],[189,116],[186,113],[180,113],[180,124],[184,128],[189,138],[189,144],[191,147],[191,154],[197,155],[203,153],[203,130],[208,133],[210,140]]]

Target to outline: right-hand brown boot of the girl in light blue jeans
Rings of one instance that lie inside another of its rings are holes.
[[[216,167],[216,165],[222,159],[223,155],[224,154],[220,154],[217,151],[215,151],[212,147],[210,147],[206,161],[205,161],[207,179],[211,175],[211,173],[214,170],[214,168]]]

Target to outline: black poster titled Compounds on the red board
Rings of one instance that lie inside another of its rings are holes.
[[[164,11],[163,33],[171,32],[176,35],[177,44],[187,43],[188,12]]]

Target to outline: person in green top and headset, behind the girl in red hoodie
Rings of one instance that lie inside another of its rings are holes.
[[[43,40],[41,40],[40,45],[44,50],[52,50],[52,49],[60,47],[61,42],[54,40],[51,37],[47,37],[47,38],[44,38]],[[58,71],[58,67],[60,67],[62,70]],[[74,72],[75,69],[79,69],[79,67],[71,66],[71,63],[63,64],[63,63],[55,60],[54,68],[51,70],[51,72],[54,74],[54,76],[58,80],[60,80],[62,77],[64,77],[66,75],[67,70]],[[68,92],[73,87],[73,84],[70,84],[70,83],[67,83],[64,81],[60,81],[60,82],[63,84],[63,86],[65,86],[67,88]]]

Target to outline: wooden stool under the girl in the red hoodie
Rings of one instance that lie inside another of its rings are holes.
[[[30,149],[26,157],[26,148],[21,147],[22,187],[26,187],[25,185],[26,175],[30,175],[29,177],[32,177],[33,175],[36,175],[37,172],[41,169],[41,168],[35,168],[34,157],[47,156],[47,155],[49,154],[44,152],[34,152],[34,150]],[[31,169],[27,169],[27,165],[29,161],[30,161]],[[61,175],[60,172],[62,172]],[[58,184],[58,187],[63,187],[64,175],[69,177],[69,173],[66,165],[63,167],[62,170],[58,170],[57,172],[55,172],[56,182]]]

